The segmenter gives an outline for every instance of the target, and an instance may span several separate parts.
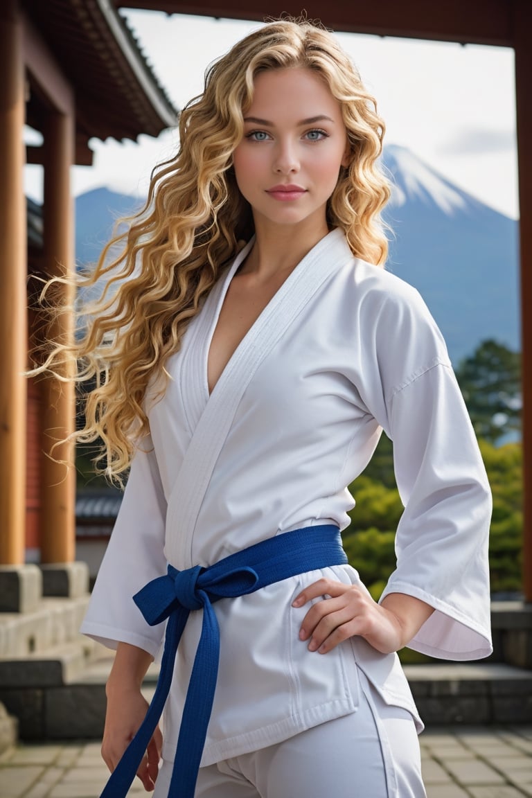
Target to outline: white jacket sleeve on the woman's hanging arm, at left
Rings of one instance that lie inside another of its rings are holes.
[[[164,624],[148,626],[132,597],[151,579],[166,573],[166,500],[151,437],[140,445],[81,632],[108,648],[127,642],[156,657]]]

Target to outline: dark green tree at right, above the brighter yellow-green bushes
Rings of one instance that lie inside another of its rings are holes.
[[[483,341],[456,369],[477,437],[497,443],[520,429],[521,356],[493,340]]]

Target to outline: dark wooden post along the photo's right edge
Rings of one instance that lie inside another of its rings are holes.
[[[532,30],[529,0],[514,2],[522,318],[523,592],[532,602]]]

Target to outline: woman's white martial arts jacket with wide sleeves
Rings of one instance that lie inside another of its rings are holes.
[[[332,231],[262,311],[210,395],[211,337],[251,246],[219,279],[167,361],[164,395],[164,383],[148,391],[151,437],[132,462],[82,631],[156,656],[164,625],[147,625],[132,601],[136,591],[167,563],[208,566],[298,527],[344,529],[354,504],[346,485],[368,464],[384,429],[405,508],[384,595],[406,593],[435,607],[411,648],[456,660],[487,656],[490,491],[443,338],[423,300],[394,275],[353,258],[343,232]],[[360,671],[384,704],[408,710],[422,728],[396,654],[351,638],[321,655],[298,639],[309,607],[291,602],[322,575],[360,583],[353,567],[335,566],[215,604],[220,665],[203,766],[355,712]],[[164,717],[167,760],[200,626],[201,612],[191,613],[179,644]]]

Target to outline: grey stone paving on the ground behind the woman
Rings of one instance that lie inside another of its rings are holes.
[[[432,728],[420,742],[428,798],[532,798],[532,727]],[[0,798],[97,798],[106,777],[99,743],[19,745],[0,757]],[[128,794],[146,795],[139,780]]]

